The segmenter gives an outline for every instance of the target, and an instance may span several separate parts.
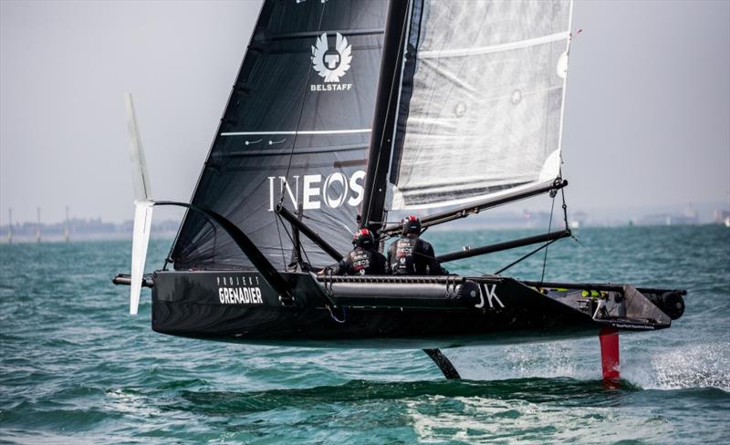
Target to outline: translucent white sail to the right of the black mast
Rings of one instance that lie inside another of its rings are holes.
[[[414,0],[391,210],[554,181],[570,1]]]

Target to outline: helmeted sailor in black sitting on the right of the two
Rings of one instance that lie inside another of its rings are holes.
[[[394,275],[445,275],[448,271],[436,261],[431,243],[423,241],[421,220],[411,215],[401,221],[401,238],[388,249],[388,267]]]

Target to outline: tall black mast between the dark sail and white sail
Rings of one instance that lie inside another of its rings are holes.
[[[378,233],[383,225],[383,208],[391,160],[392,135],[398,109],[398,90],[401,84],[409,5],[408,1],[391,0],[385,19],[381,72],[370,133],[365,193],[360,212],[360,228],[367,227],[373,233]]]

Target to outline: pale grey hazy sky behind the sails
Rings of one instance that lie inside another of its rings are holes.
[[[131,219],[127,91],[152,195],[189,200],[260,5],[0,0],[0,223]],[[730,206],[730,2],[578,1],[573,29],[571,208]]]

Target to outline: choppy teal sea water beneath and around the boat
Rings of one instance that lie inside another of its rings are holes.
[[[527,235],[429,232],[437,253]],[[0,441],[707,443],[730,438],[730,230],[581,229],[505,274],[686,288],[672,328],[624,335],[618,388],[598,338],[421,351],[254,347],[129,316],[130,243],[0,245]],[[148,270],[169,240],[153,241]],[[524,248],[444,264],[494,273]],[[543,266],[544,272],[543,272]]]

